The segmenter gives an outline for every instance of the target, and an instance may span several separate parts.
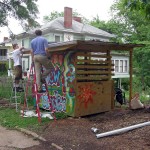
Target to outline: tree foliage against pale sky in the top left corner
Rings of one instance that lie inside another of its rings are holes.
[[[22,27],[28,30],[38,26],[35,21],[38,14],[37,0],[1,0],[0,1],[0,26],[8,26],[9,18],[21,22]]]

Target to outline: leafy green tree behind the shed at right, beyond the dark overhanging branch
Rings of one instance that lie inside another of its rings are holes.
[[[123,23],[128,28],[131,33],[131,36],[129,36],[130,43],[145,44],[145,47],[136,48],[133,54],[134,74],[138,79],[136,84],[137,87],[142,86],[142,89],[145,90],[147,87],[150,88],[150,24],[143,17],[140,9],[125,7],[125,2],[126,0],[118,0],[112,6],[113,19]]]

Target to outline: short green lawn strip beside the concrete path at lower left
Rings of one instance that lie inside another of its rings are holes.
[[[65,113],[55,113],[57,119],[66,118]],[[38,131],[44,125],[53,122],[49,118],[41,118],[41,122],[38,121],[37,117],[22,117],[20,112],[16,112],[12,108],[0,108],[0,125],[7,128],[26,128],[32,131]]]

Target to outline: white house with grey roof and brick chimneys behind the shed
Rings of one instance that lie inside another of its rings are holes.
[[[84,24],[80,17],[72,16],[72,8],[64,8],[64,17],[56,18],[47,24],[44,24],[40,28],[43,32],[43,36],[51,42],[66,42],[72,40],[97,40],[109,42],[111,38],[115,38],[115,35],[106,31],[98,29],[88,24]],[[20,46],[24,46],[30,49],[30,42],[35,37],[36,29],[23,32],[16,35],[16,42]],[[11,68],[11,51],[12,48],[8,48],[9,54],[9,68]],[[114,62],[114,76],[113,78],[129,77],[129,58],[128,56],[114,54],[112,55],[112,61]],[[24,54],[22,58],[23,71],[30,68],[31,56]],[[124,67],[122,70],[121,66]]]

